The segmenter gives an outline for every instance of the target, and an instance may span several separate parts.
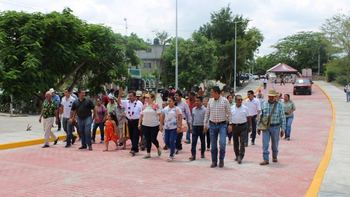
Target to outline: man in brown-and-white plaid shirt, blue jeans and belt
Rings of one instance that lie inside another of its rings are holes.
[[[219,167],[224,167],[224,158],[226,153],[226,130],[232,131],[232,114],[230,103],[227,99],[220,96],[220,88],[214,86],[210,90],[211,99],[208,102],[207,110],[204,117],[204,133],[207,132],[207,122],[210,125],[210,142],[211,142],[211,168],[217,166],[218,161],[218,135],[219,138]],[[229,126],[227,127],[227,118],[229,118]]]

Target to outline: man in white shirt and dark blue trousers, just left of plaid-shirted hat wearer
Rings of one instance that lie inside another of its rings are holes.
[[[252,121],[252,145],[255,145],[255,137],[257,136],[257,122],[258,122],[258,116],[260,114],[261,106],[260,106],[260,101],[254,98],[253,90],[249,90],[247,93],[247,96],[248,96],[248,99],[245,100],[245,106],[248,107],[249,116]],[[248,146],[248,139],[249,139],[248,133],[249,133],[249,130],[247,129],[247,137],[245,139],[245,144],[244,144],[246,147]]]

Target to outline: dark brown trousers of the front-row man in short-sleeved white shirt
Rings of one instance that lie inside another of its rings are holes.
[[[239,127],[233,125],[232,137],[233,137],[233,150],[235,151],[236,157],[243,159],[245,152],[245,137],[247,135],[247,124]]]

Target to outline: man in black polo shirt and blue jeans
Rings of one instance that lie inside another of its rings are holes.
[[[92,150],[91,145],[91,124],[92,124],[92,113],[91,109],[93,109],[93,113],[95,114],[95,121],[99,122],[99,118],[97,116],[97,110],[91,99],[85,97],[85,89],[79,89],[79,99],[75,100],[72,105],[72,109],[70,111],[69,123],[72,124],[74,121],[74,111],[76,111],[79,116],[78,125],[80,129],[80,135],[82,137],[82,146],[78,149],[85,149],[89,147],[89,150]]]

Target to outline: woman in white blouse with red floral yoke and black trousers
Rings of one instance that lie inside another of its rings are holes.
[[[159,147],[159,142],[157,140],[158,132],[163,131],[162,124],[160,124],[159,120],[161,117],[161,109],[157,103],[153,103],[155,94],[150,93],[147,95],[147,103],[144,104],[140,113],[139,119],[139,129],[141,129],[142,122],[142,131],[146,137],[147,142],[147,155],[143,158],[151,157],[151,147],[152,143],[155,145],[158,151],[158,155],[162,154],[162,151]]]

